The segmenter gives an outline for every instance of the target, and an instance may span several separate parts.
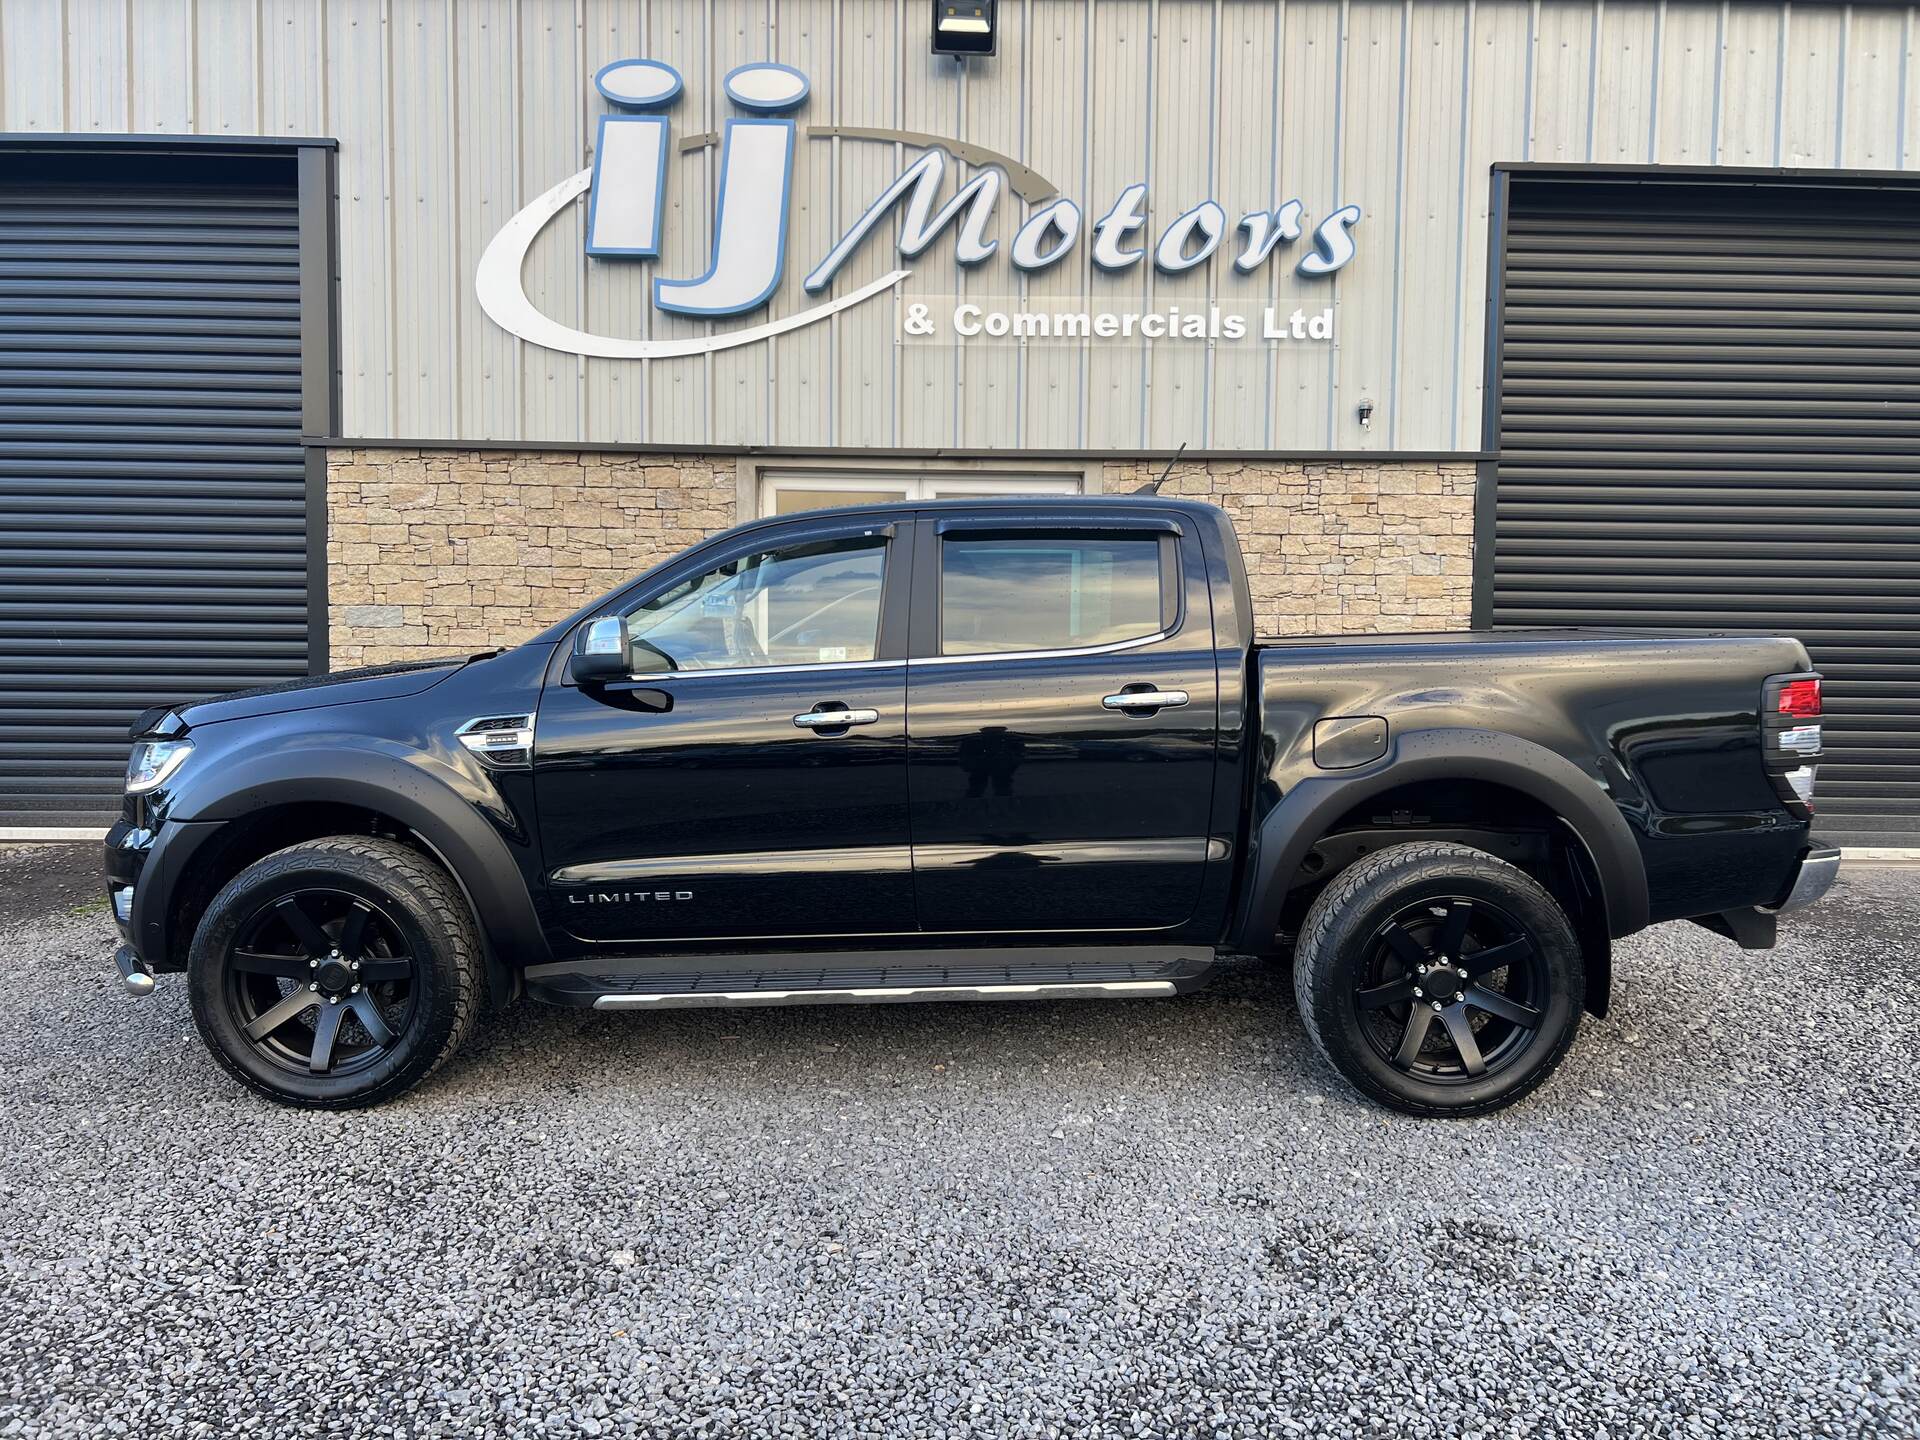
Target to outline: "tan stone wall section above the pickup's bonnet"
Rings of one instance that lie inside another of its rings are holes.
[[[515,645],[733,524],[735,474],[703,455],[332,451],[332,664]]]

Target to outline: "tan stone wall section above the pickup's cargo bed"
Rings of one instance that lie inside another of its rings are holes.
[[[1165,461],[1106,467],[1110,493]],[[1465,630],[1473,616],[1471,463],[1192,461],[1162,495],[1233,516],[1261,636]]]

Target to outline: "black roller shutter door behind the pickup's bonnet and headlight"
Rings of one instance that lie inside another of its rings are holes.
[[[0,826],[100,824],[156,699],[307,672],[294,161],[132,165],[0,159]]]

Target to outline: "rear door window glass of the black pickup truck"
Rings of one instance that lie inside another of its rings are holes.
[[[1121,538],[941,541],[941,655],[1062,651],[1164,628],[1162,543]]]

